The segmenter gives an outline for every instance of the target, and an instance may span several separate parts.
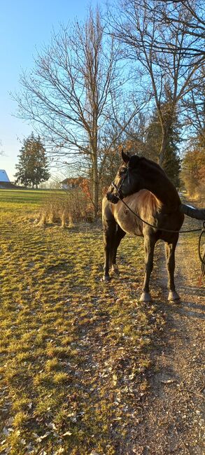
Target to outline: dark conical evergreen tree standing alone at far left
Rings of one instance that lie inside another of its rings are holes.
[[[17,169],[15,183],[20,183],[25,187],[34,188],[36,186],[38,188],[39,183],[49,179],[48,158],[39,136],[35,138],[32,133],[24,140],[18,158],[19,162],[15,166]]]

